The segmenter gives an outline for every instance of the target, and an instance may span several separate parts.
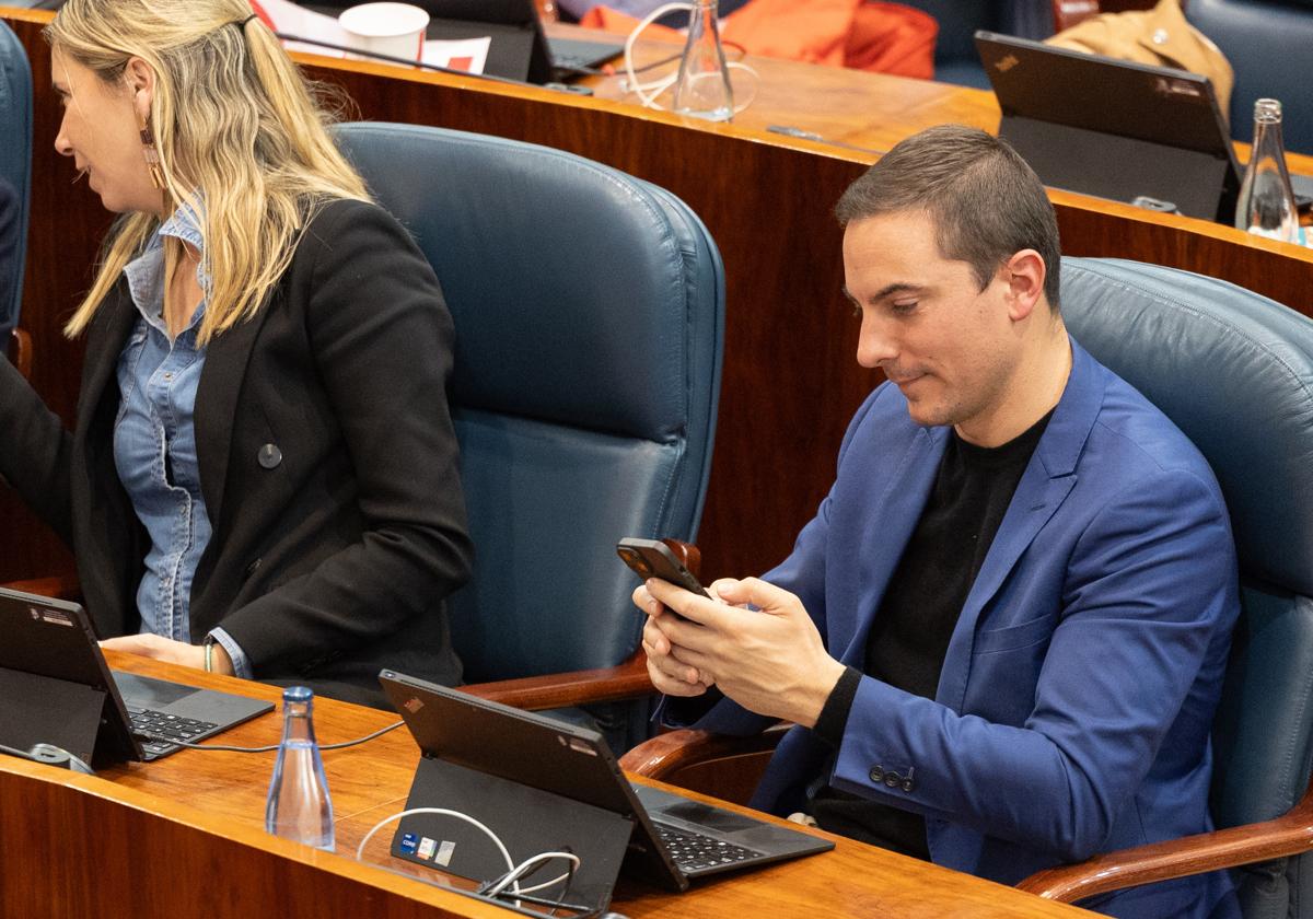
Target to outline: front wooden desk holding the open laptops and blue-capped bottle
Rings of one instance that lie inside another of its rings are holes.
[[[129,655],[116,667],[263,698],[280,691]],[[318,700],[320,743],[362,737],[395,719]],[[223,735],[277,743],[281,716]],[[509,915],[466,897],[353,860],[365,832],[404,807],[419,751],[400,729],[324,755],[337,821],[327,855],[264,832],[273,754],[183,751],[80,776],[0,756],[0,915],[43,919],[326,919]],[[821,834],[823,835],[823,834]],[[381,831],[366,857],[386,860]],[[700,882],[685,894],[622,882],[613,908],[628,916],[767,919],[1041,919],[1090,915],[989,881],[835,838],[834,852]],[[528,853],[525,853],[528,855]],[[402,863],[398,863],[400,865]],[[421,869],[420,869],[421,870]],[[435,877],[437,877],[435,874]]]

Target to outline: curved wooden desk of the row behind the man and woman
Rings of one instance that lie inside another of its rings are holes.
[[[0,12],[33,58],[37,88],[22,324],[37,347],[34,381],[74,412],[81,349],[59,323],[89,281],[109,217],[72,165],[50,155],[59,108],[39,28],[49,13]],[[622,101],[488,84],[364,62],[303,58],[347,89],[364,118],[441,125],[570,150],[656,182],[706,222],[726,268],[726,357],[716,460],[699,544],[704,574],[756,574],[781,559],[834,478],[843,431],[880,381],[855,362],[857,323],[840,293],[840,232],[831,207],[874,156],[764,130],[785,123],[888,148],[958,121],[991,129],[979,91],[892,76],[759,62],[763,85],[735,123],[710,125]],[[605,95],[607,87],[599,88]],[[1313,172],[1313,161],[1296,160]],[[1052,193],[1070,255],[1115,256],[1213,274],[1313,314],[1313,251],[1201,221]],[[559,228],[569,232],[569,227]],[[601,268],[599,268],[601,269]],[[0,496],[0,579],[67,570],[53,537]]]

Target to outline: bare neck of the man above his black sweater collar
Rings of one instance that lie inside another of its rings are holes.
[[[1071,375],[1071,341],[1061,319],[1045,332],[1044,341],[1018,364],[999,407],[956,425],[958,437],[977,446],[1002,446],[1058,404]]]

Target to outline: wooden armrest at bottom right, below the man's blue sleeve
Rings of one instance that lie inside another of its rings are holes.
[[[1078,865],[1036,872],[1016,886],[1070,903],[1108,890],[1238,868],[1309,849],[1313,849],[1313,784],[1297,805],[1276,819],[1107,852]]]

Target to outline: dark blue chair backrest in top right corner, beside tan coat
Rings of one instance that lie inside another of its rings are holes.
[[[1313,154],[1313,0],[1190,0],[1186,18],[1236,71],[1232,137],[1254,137],[1254,100],[1279,98],[1287,150]]]

